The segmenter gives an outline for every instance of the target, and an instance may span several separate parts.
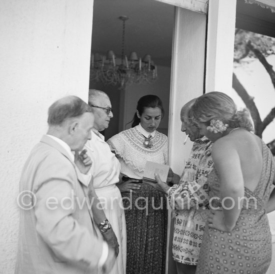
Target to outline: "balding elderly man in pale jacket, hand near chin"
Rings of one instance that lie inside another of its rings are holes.
[[[22,170],[15,273],[108,273],[115,255],[94,225],[87,200],[91,161],[80,152],[91,138],[90,107],[76,96],[59,99],[49,107],[48,125]]]

